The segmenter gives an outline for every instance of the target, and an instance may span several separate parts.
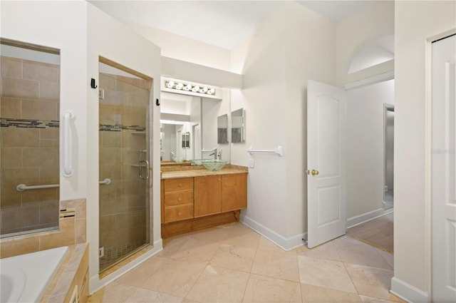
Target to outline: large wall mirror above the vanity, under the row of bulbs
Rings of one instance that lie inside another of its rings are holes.
[[[160,155],[162,165],[174,165],[174,158],[190,160],[213,159],[217,156],[229,161],[229,148],[220,151],[220,144],[227,144],[229,99],[205,98],[183,93],[160,92]],[[219,130],[220,142],[219,143]],[[208,151],[209,150],[209,151]],[[212,155],[211,155],[212,154]],[[182,160],[181,159],[181,160]],[[167,163],[165,163],[165,161]]]

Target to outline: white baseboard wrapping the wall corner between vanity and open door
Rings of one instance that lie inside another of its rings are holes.
[[[271,242],[274,242],[275,245],[278,245],[283,250],[289,251],[293,250],[296,247],[304,245],[303,238],[307,237],[307,233],[302,233],[300,235],[296,235],[294,237],[283,237],[278,233],[274,232],[274,230],[270,230],[268,227],[261,225],[259,222],[252,220],[250,217],[247,217],[243,213],[241,213],[240,221],[247,225],[248,227],[252,228],[252,230],[258,232],[263,237],[266,237]]]

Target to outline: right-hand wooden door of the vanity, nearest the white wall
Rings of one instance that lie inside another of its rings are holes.
[[[247,207],[247,174],[222,175],[222,212]]]

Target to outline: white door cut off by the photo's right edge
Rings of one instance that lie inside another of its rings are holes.
[[[456,302],[456,36],[432,43],[432,302]]]

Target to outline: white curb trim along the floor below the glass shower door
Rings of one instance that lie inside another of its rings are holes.
[[[140,255],[140,257],[129,262],[127,265],[120,267],[120,269],[116,270],[112,274],[108,274],[103,279],[99,279],[98,274],[96,274],[94,277],[90,277],[90,294],[94,294],[98,290],[100,290],[103,287],[105,287],[106,285],[110,284],[110,282],[113,282],[115,279],[118,279],[118,277],[121,277],[121,276],[123,276],[123,274],[126,274],[127,272],[130,272],[130,270],[134,269],[135,267],[138,267],[138,265],[142,264],[142,262],[145,262],[150,257],[157,255],[157,253],[161,252],[162,250],[163,250],[163,241],[160,238],[160,240],[157,240],[156,242],[154,242],[152,250],[146,252],[143,255]]]

